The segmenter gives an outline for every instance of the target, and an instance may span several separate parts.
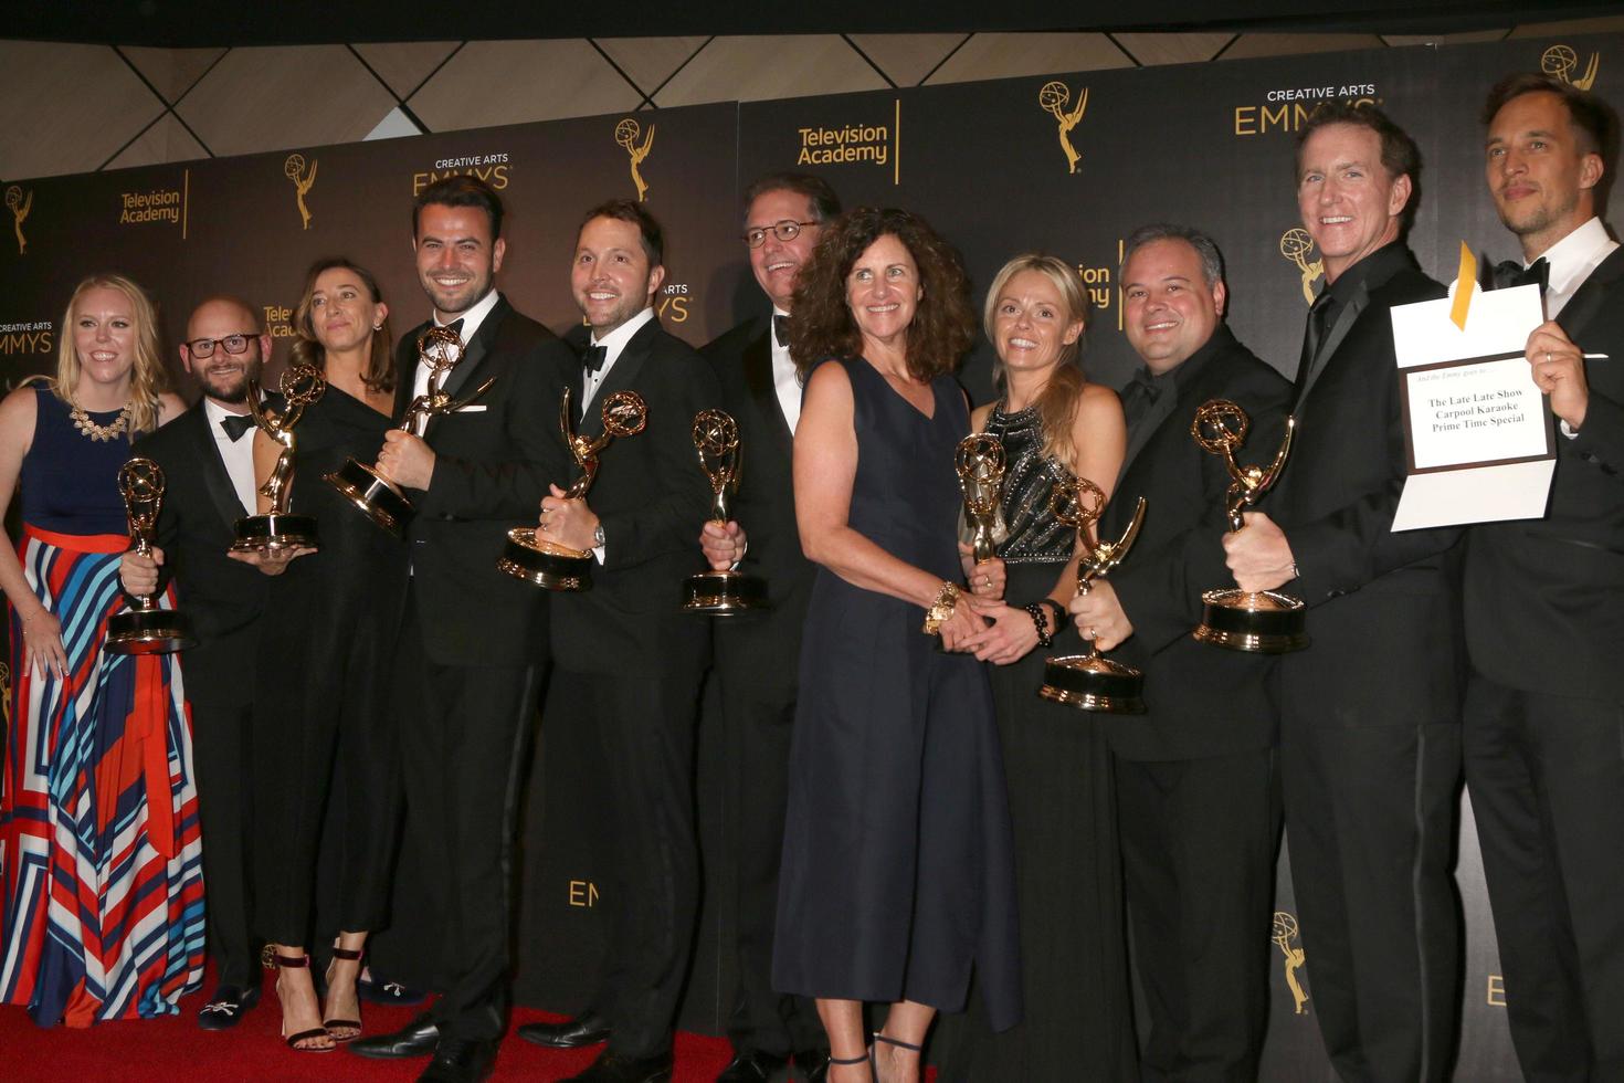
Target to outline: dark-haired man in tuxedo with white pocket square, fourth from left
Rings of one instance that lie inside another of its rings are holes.
[[[516,771],[547,641],[546,593],[499,572],[497,559],[507,529],[534,515],[564,472],[549,421],[573,359],[495,291],[507,242],[487,185],[450,177],[424,188],[412,231],[432,323],[456,328],[464,346],[445,391],[461,398],[492,380],[421,432],[390,432],[378,455],[378,471],[416,505],[395,680],[406,799],[417,802],[416,823],[438,830],[427,846],[443,872],[447,987],[403,1031],[349,1047],[372,1057],[434,1051],[421,1078],[461,1081],[489,1075],[507,1026]],[[396,349],[398,416],[427,386],[417,356],[427,326]]]

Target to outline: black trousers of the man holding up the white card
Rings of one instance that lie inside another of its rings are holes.
[[[1528,1080],[1624,1078],[1624,703],[1473,672],[1466,787]]]

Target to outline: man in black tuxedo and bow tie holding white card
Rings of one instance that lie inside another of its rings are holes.
[[[1549,321],[1527,357],[1559,434],[1544,518],[1468,536],[1466,786],[1523,1075],[1611,1080],[1624,1077],[1624,252],[1596,208],[1616,117],[1520,75],[1483,119],[1494,206],[1546,283]]]

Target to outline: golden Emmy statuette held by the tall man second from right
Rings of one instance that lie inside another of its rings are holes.
[[[1294,417],[1286,417],[1286,435],[1280,442],[1275,461],[1267,469],[1241,466],[1234,461],[1234,450],[1246,443],[1246,434],[1250,427],[1252,421],[1246,411],[1229,399],[1203,403],[1190,422],[1190,437],[1195,443],[1200,445],[1202,451],[1221,456],[1229,471],[1224,511],[1229,515],[1231,531],[1246,526],[1241,510],[1262,500],[1263,494],[1280,481],[1280,471],[1291,451],[1291,437],[1298,422]],[[1255,654],[1285,654],[1286,651],[1301,651],[1309,645],[1302,601],[1291,594],[1242,591],[1229,586],[1207,591],[1202,594],[1202,623],[1192,633],[1202,643]]]

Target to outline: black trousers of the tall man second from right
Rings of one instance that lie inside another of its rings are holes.
[[[1440,1080],[1460,1015],[1460,726],[1348,723],[1322,690],[1281,684],[1286,844],[1325,1052],[1350,1083]]]

